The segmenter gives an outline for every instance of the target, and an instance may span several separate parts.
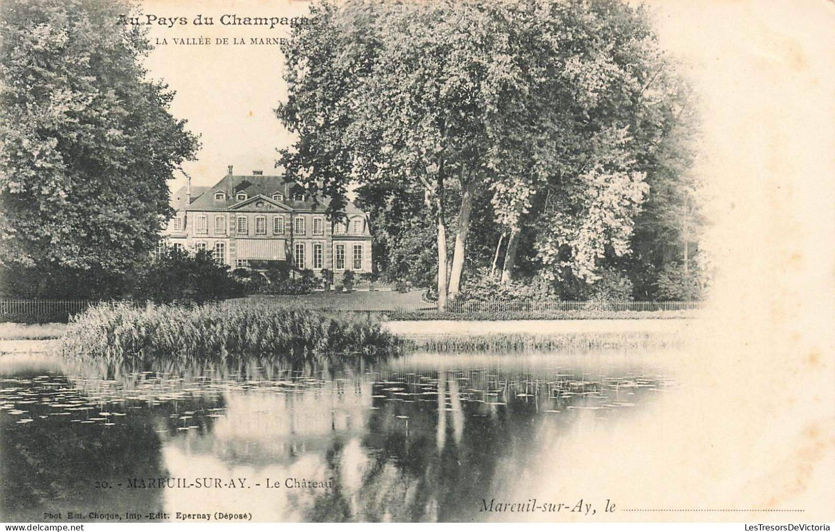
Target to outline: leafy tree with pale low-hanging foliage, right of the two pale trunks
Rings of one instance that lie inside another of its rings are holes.
[[[510,139],[493,183],[497,221],[507,228],[503,281],[523,231],[535,235],[540,275],[594,282],[611,256],[630,252],[647,197],[646,154],[665,134],[659,109],[676,84],[641,8],[617,1],[543,3],[524,32],[531,48],[526,90],[506,120]],[[518,97],[517,97],[518,98]]]

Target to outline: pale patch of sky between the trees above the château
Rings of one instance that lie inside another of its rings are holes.
[[[226,173],[227,165],[235,173],[249,174],[264,170],[270,174],[276,161],[276,148],[291,143],[273,109],[286,96],[281,80],[283,56],[276,44],[234,45],[235,38],[282,38],[286,27],[223,26],[220,17],[236,14],[250,17],[294,17],[307,13],[302,2],[146,2],[141,13],[159,18],[186,17],[186,25],[173,28],[152,24],[151,42],[165,39],[145,62],[149,75],[163,79],[176,91],[172,114],[188,120],[188,128],[200,134],[201,149],[197,160],[183,165],[193,185],[214,185]],[[212,26],[195,26],[198,16],[212,17]],[[210,45],[175,44],[173,38],[209,38]],[[227,38],[230,44],[215,44]],[[180,175],[172,183],[185,183]]]

